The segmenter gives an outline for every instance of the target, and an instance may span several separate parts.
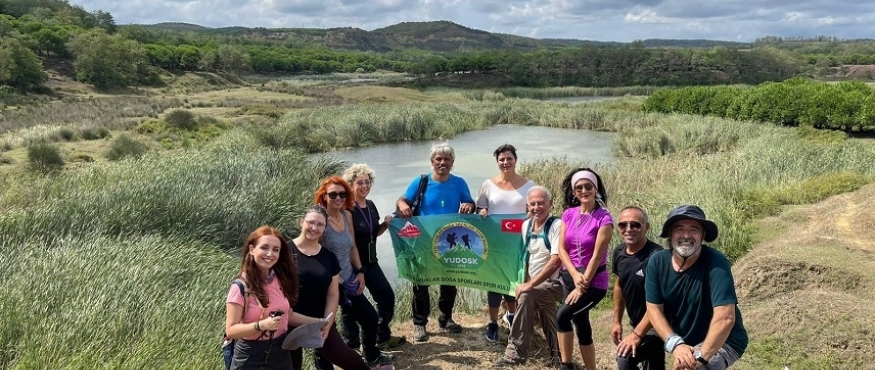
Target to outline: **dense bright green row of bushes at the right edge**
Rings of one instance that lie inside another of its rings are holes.
[[[755,87],[663,89],[647,99],[644,109],[848,132],[875,131],[875,89],[863,82],[793,78]]]

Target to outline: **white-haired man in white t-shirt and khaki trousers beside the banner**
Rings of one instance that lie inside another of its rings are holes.
[[[563,297],[558,273],[559,239],[562,220],[550,214],[553,196],[543,186],[534,186],[526,194],[531,217],[523,222],[523,244],[528,252],[526,280],[516,288],[517,311],[510,325],[504,356],[497,365],[522,364],[529,354],[536,320],[547,339],[552,361],[559,359],[556,339],[556,302]]]

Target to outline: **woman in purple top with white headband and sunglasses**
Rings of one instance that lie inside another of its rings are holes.
[[[557,337],[561,364],[559,369],[574,369],[574,330],[587,369],[596,368],[595,345],[589,310],[608,290],[608,244],[614,232],[613,219],[605,205],[608,196],[601,177],[589,168],[569,173],[562,181],[565,195],[559,259],[559,276],[565,288],[565,301],[556,311]]]

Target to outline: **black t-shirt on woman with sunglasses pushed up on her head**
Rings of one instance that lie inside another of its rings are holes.
[[[340,263],[328,248],[319,248],[319,253],[308,256],[301,253],[295,243],[289,243],[289,246],[297,261],[300,281],[298,304],[294,310],[304,316],[323,317],[328,287],[334,275],[340,273]]]

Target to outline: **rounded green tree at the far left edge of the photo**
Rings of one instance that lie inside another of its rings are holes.
[[[33,89],[46,82],[43,63],[33,51],[11,37],[3,39],[0,45],[0,83]]]

